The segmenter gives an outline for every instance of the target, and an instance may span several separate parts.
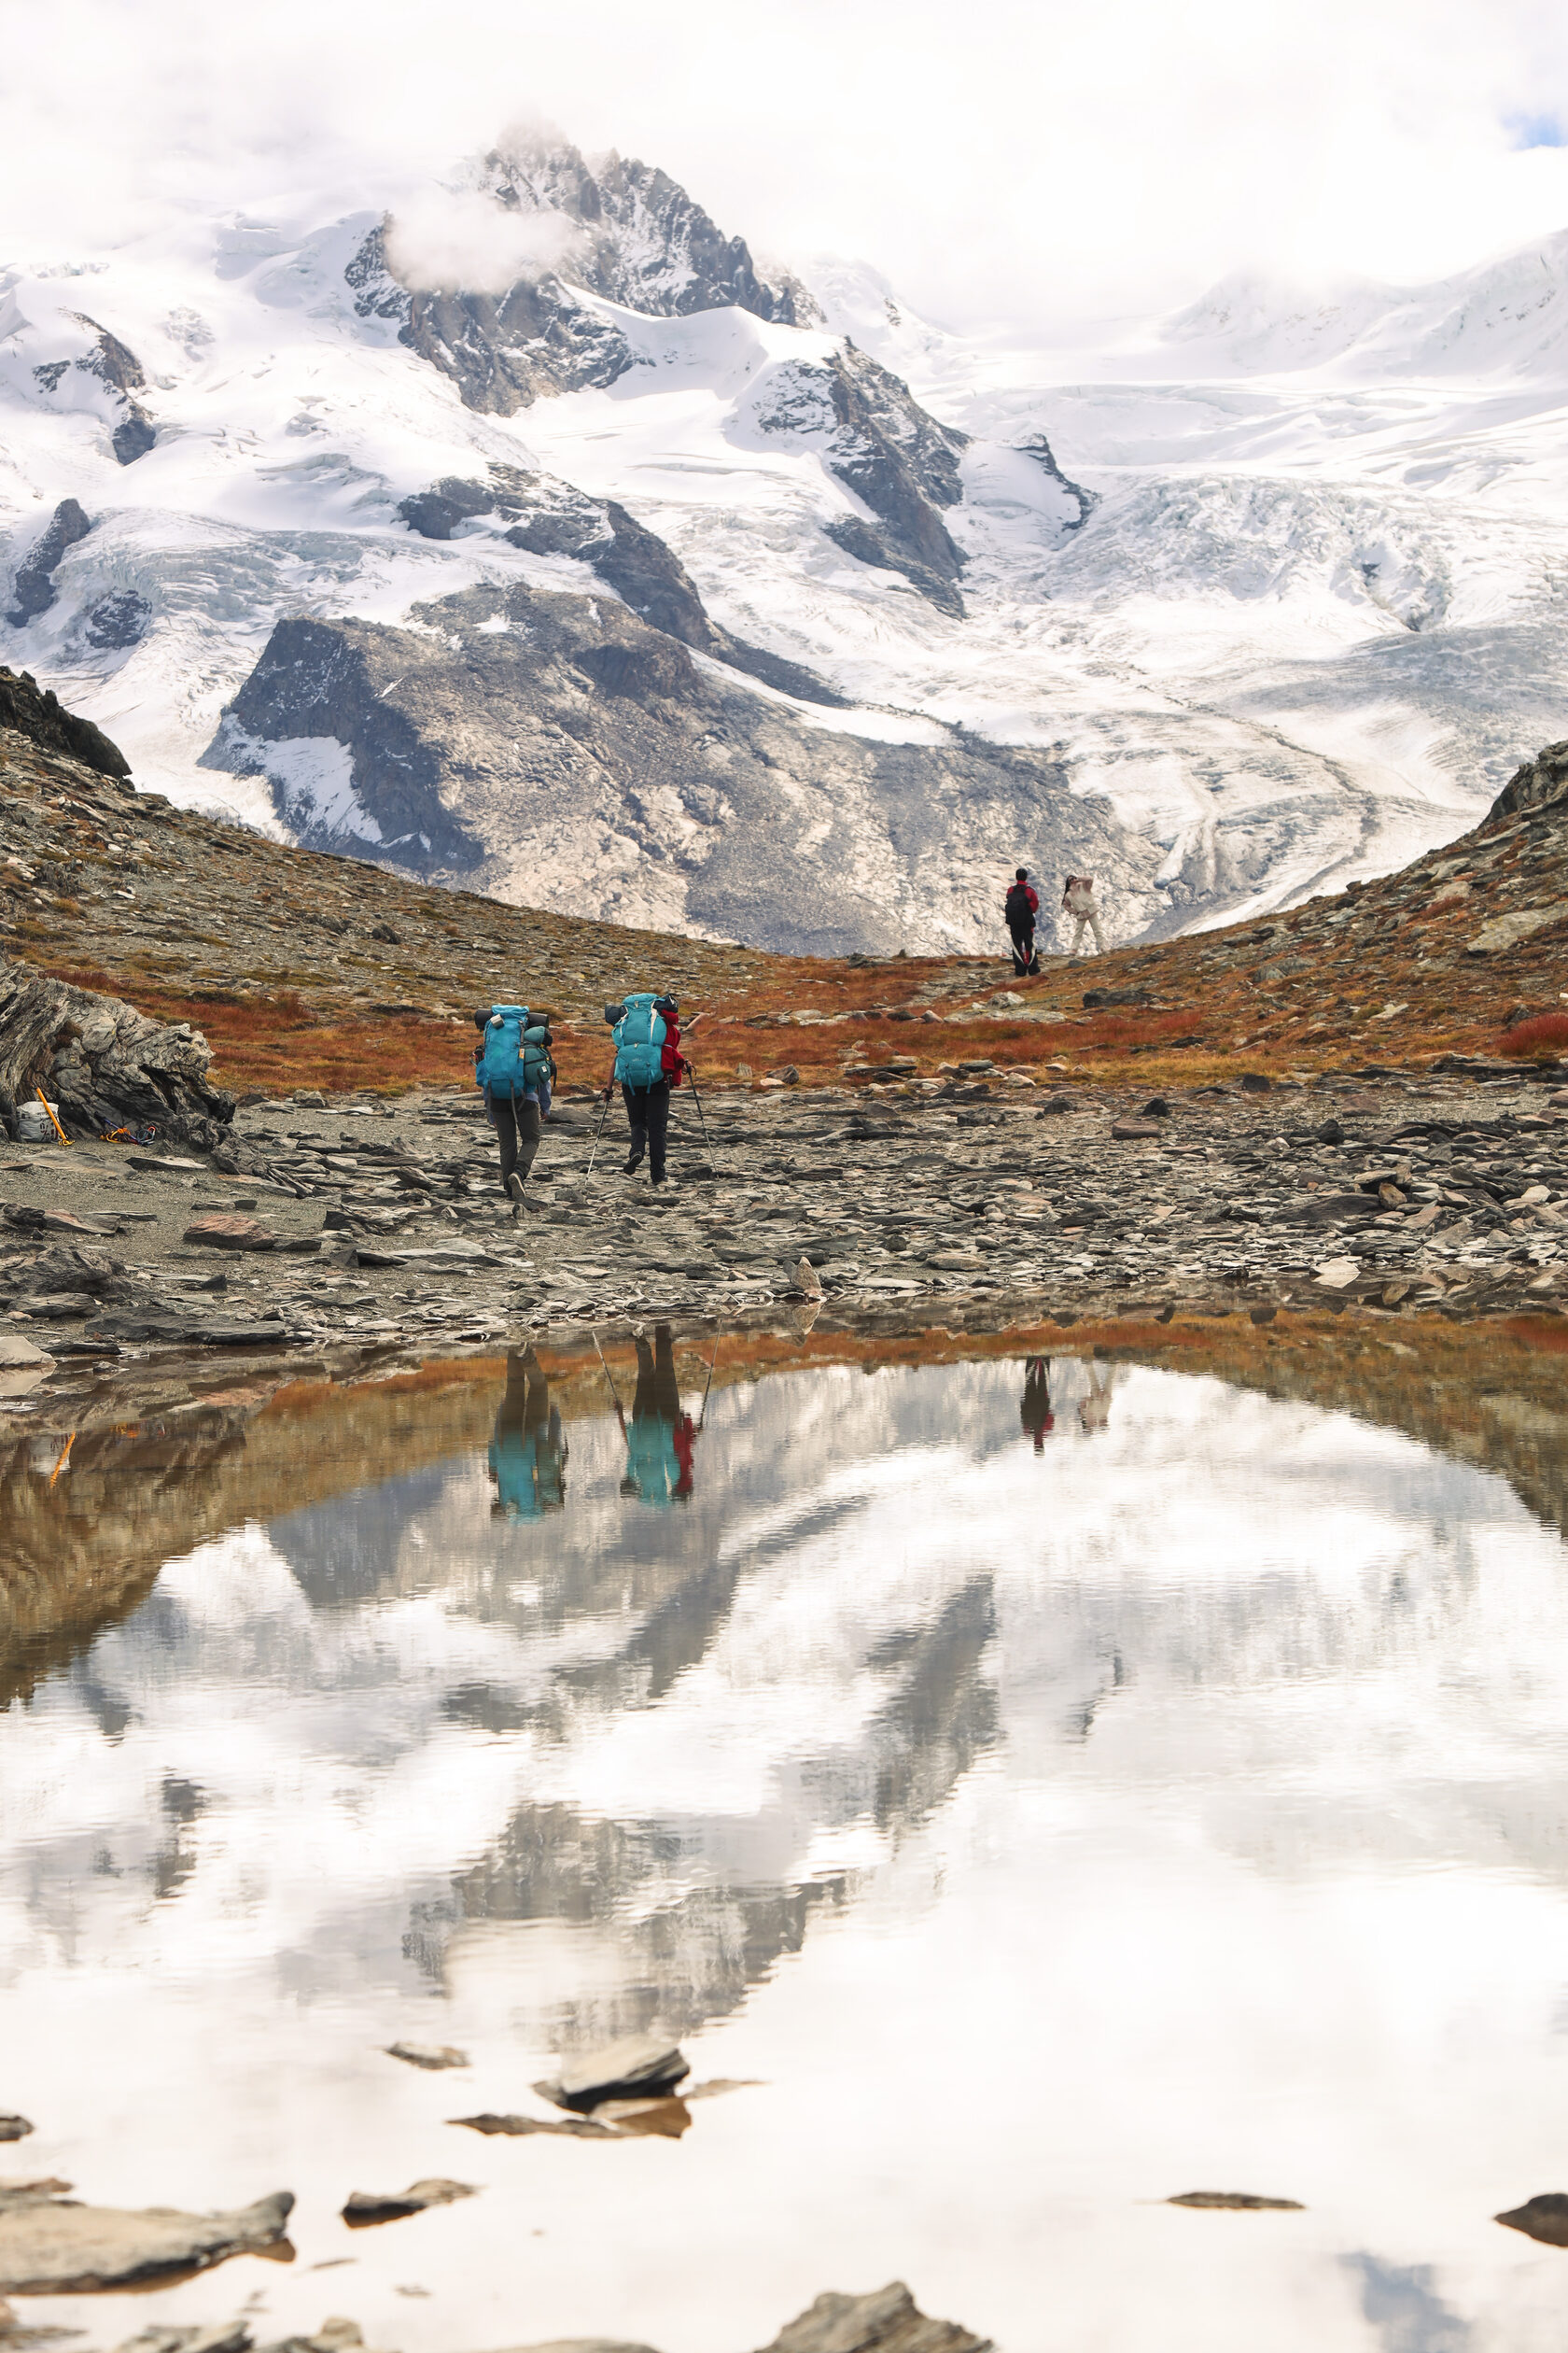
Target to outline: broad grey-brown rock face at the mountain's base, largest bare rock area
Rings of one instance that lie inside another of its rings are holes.
[[[966,932],[1020,840],[1107,889],[1154,880],[1159,849],[1046,753],[811,727],[609,600],[484,586],[416,619],[280,621],[205,765],[268,774],[270,746],[329,741],[353,802],[275,765],[313,847],[813,953]]]

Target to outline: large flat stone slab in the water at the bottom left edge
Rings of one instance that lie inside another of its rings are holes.
[[[0,2209],[0,2294],[85,2297],[136,2287],[165,2273],[209,2271],[230,2254],[282,2242],[292,2191],[273,2191],[228,2214],[176,2207],[89,2207],[40,2200]]]

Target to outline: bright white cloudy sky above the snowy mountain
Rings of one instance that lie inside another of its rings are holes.
[[[1556,0],[0,0],[0,261],[395,200],[512,120],[1023,339],[1568,226]]]

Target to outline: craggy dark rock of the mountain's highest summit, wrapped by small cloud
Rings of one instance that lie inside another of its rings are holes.
[[[538,393],[607,386],[635,365],[614,320],[578,287],[654,318],[738,304],[797,325],[802,287],[764,285],[743,238],[724,238],[668,172],[604,155],[588,165],[567,144],[496,151],[484,188],[505,212],[555,214],[569,233],[557,271],[522,273],[501,294],[404,287],[386,224],[343,271],[360,318],[397,320],[400,341],[451,376],[470,409],[512,416]]]

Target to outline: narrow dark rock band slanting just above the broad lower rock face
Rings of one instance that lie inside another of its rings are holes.
[[[505,539],[529,555],[569,555],[590,565],[635,614],[698,654],[712,654],[748,678],[806,704],[844,708],[844,696],[797,661],[745,645],[717,628],[679,555],[616,499],[590,499],[569,482],[491,466],[491,480],[447,478],[404,499],[397,513],[423,539],[451,539],[463,522],[498,518]]]

